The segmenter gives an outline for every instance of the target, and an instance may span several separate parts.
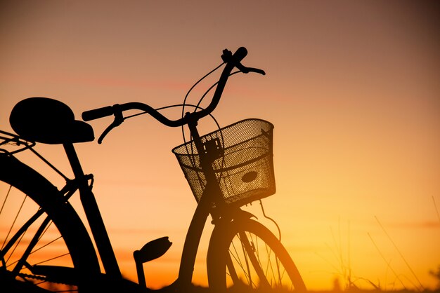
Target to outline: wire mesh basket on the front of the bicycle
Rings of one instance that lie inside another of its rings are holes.
[[[275,193],[271,123],[246,119],[200,138],[214,160],[212,167],[226,204],[241,206]],[[172,151],[199,201],[207,182],[195,143],[181,144]]]

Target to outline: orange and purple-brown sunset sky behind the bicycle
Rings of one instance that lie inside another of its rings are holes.
[[[116,103],[179,104],[224,48],[245,46],[243,64],[266,76],[233,76],[214,116],[275,125],[277,193],[264,207],[306,286],[331,289],[351,275],[364,288],[434,288],[438,15],[434,1],[0,1],[0,128],[12,131],[9,113],[25,97],[56,98],[78,119]],[[96,137],[110,122],[91,122]],[[124,275],[136,280],[132,252],[149,240],[174,243],[145,264],[153,287],[175,280],[196,205],[171,152],[181,142],[180,129],[141,116],[101,145],[77,145]],[[37,150],[70,174],[62,147]],[[261,217],[258,204],[249,209]],[[210,229],[193,279],[201,285]]]

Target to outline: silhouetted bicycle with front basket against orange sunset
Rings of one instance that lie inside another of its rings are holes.
[[[214,229],[207,252],[207,277],[209,288],[214,292],[228,289],[240,292],[247,289],[306,291],[297,267],[280,240],[257,222],[253,214],[240,208],[276,191],[272,160],[273,125],[261,119],[245,119],[206,135],[198,132],[198,121],[212,116],[229,76],[238,72],[264,74],[261,69],[241,64],[246,55],[247,50],[242,47],[235,53],[224,50],[221,55],[224,69],[214,84],[212,101],[205,109],[200,104],[192,105],[194,111],[186,112],[177,120],[170,120],[160,113],[160,109],[141,102],[115,104],[82,114],[84,121],[115,117],[99,137],[99,143],[112,128],[140,114],[150,114],[169,127],[183,129],[186,125],[190,130],[192,139],[172,151],[198,205],[184,241],[179,276],[164,289],[188,292],[200,237],[210,215]],[[232,72],[234,68],[238,71]],[[183,102],[179,106],[188,104]],[[38,113],[35,109],[39,109]],[[124,111],[132,109],[140,112],[124,117]],[[0,132],[0,182],[7,184],[6,188],[1,186],[6,196],[2,197],[0,210],[0,231],[4,234],[0,238],[0,284],[4,288],[29,292],[94,292],[103,288],[112,292],[115,288],[127,292],[150,291],[146,286],[143,264],[162,256],[171,242],[167,237],[159,238],[136,250],[134,261],[138,283],[122,278],[93,196],[93,175],[84,173],[74,148],[75,143],[94,139],[93,128],[84,121],[75,120],[72,110],[62,102],[32,97],[22,100],[11,111],[11,126],[18,135]],[[34,149],[36,142],[62,144],[74,179],[65,176],[41,156]],[[38,156],[65,179],[65,186],[58,190],[19,161],[15,154],[21,151],[31,151]],[[69,201],[76,191],[79,191],[90,234]],[[24,198],[17,207],[17,215],[11,214],[10,205],[12,197],[15,203],[18,202],[16,193],[22,193]],[[27,206],[31,203],[33,211]],[[22,217],[23,212],[27,213],[26,217]],[[12,217],[11,228],[4,228],[4,214]],[[41,259],[42,256],[46,258]],[[101,259],[104,272],[101,272],[98,259]]]

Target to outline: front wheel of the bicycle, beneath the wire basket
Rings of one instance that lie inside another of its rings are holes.
[[[249,218],[214,228],[207,273],[209,287],[216,292],[306,292],[283,244],[264,225]]]

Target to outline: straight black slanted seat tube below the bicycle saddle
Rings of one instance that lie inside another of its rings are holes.
[[[67,158],[69,159],[70,165],[72,166],[73,174],[76,179],[79,179],[79,198],[81,199],[82,206],[84,207],[84,212],[89,222],[91,233],[98,247],[99,255],[101,256],[101,261],[103,261],[103,266],[105,273],[108,273],[112,277],[122,278],[121,271],[117,265],[117,260],[115,257],[115,252],[113,252],[112,244],[110,243],[110,238],[108,237],[107,230],[101,217],[101,212],[99,211],[98,203],[96,203],[96,198],[93,195],[89,184],[84,178],[84,172],[82,170],[81,164],[79,163],[79,158],[77,152],[73,147],[72,143],[63,144]]]

